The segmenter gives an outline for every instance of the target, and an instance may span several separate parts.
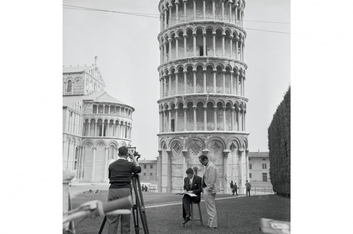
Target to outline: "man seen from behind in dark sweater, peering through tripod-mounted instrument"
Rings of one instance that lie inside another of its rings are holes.
[[[108,201],[131,195],[131,173],[140,173],[134,154],[126,146],[121,146],[118,153],[119,159],[111,163],[108,168],[109,192]],[[133,162],[128,162],[127,157]],[[108,234],[116,234],[118,231],[119,217],[121,216],[121,234],[130,234],[130,214],[107,215]]]

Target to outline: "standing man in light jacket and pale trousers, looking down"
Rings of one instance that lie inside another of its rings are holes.
[[[208,228],[217,228],[216,193],[219,192],[219,179],[216,166],[208,160],[204,154],[198,157],[202,165],[205,166],[202,177],[202,188],[205,198],[205,205],[208,214]]]

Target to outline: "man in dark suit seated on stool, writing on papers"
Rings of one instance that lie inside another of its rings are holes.
[[[183,224],[190,220],[190,202],[201,201],[201,182],[202,178],[194,175],[194,171],[191,168],[186,170],[187,177],[184,178],[184,192],[188,194],[196,194],[197,197],[190,197],[184,195],[183,197]]]

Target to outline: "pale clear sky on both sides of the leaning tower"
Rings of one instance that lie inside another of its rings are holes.
[[[158,3],[159,0],[63,1],[71,6],[157,14],[150,15],[154,17],[159,15]],[[132,146],[137,147],[142,158],[154,159],[158,155],[159,131],[159,19],[66,8],[62,12],[62,65],[91,65],[98,56],[107,93],[135,108]],[[268,151],[267,128],[291,81],[290,34],[286,34],[291,30],[290,18],[290,1],[246,1],[246,131],[250,133],[250,151]]]

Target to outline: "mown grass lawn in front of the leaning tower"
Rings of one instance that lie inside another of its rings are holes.
[[[180,202],[180,195],[150,193],[144,192],[145,205],[161,204],[168,202]],[[90,200],[101,200],[106,202],[108,191],[102,191],[96,194],[79,194],[72,199],[73,208],[77,207]],[[219,194],[216,198],[232,197],[230,195]],[[201,195],[203,199],[203,195]],[[216,200],[216,209],[218,217],[218,228],[216,230],[209,230],[207,226],[208,216],[206,213],[205,203],[201,202],[201,213],[204,227],[201,227],[200,222],[194,223],[193,230],[191,229],[191,222],[185,224],[183,228],[182,205],[174,204],[163,207],[146,207],[146,216],[151,234],[203,234],[203,233],[237,233],[250,234],[258,233],[260,218],[268,218],[275,220],[290,221],[290,203],[291,200],[275,195],[261,195],[251,197],[232,197],[230,199]],[[194,210],[197,206],[194,205]],[[195,213],[196,219],[198,212]],[[95,219],[77,220],[75,228],[77,234],[96,234],[99,231],[103,217]],[[106,223],[103,234],[107,233],[108,223]],[[118,229],[120,234],[120,225]],[[133,228],[133,218],[131,215],[131,234],[135,233]],[[143,234],[143,228],[140,223],[140,233]]]

